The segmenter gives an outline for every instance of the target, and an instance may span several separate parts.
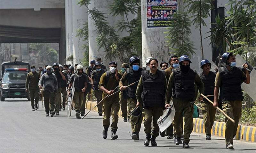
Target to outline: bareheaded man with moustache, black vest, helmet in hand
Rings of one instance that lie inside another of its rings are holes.
[[[167,83],[164,71],[157,69],[158,61],[156,59],[149,60],[149,67],[150,70],[142,71],[141,73],[136,91],[136,106],[143,102],[142,116],[144,117],[144,132],[146,133],[144,145],[148,146],[150,141],[151,146],[157,146],[156,137],[159,135],[159,127],[156,121],[163,115]],[[151,129],[152,116],[153,128]]]

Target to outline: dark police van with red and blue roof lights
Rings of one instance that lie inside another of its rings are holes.
[[[10,61],[2,63],[0,77],[0,100],[5,98],[28,98],[26,92],[26,78],[30,71],[28,62]]]

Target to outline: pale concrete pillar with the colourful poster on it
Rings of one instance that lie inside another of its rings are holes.
[[[166,28],[147,28],[147,0],[141,0],[141,26],[142,26],[142,65],[146,66],[146,58],[153,57],[159,62],[168,62],[169,48],[166,47],[164,34]]]

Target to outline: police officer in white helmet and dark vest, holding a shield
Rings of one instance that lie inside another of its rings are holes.
[[[85,74],[83,74],[83,71],[84,71],[83,65],[77,65],[76,70],[77,70],[77,73],[73,74],[70,80],[68,81],[69,83],[68,94],[71,94],[70,88],[73,84],[74,79],[76,78],[74,82],[75,92],[74,92],[73,101],[75,103],[76,118],[81,119],[80,109],[84,101],[84,92],[87,88],[88,78]]]

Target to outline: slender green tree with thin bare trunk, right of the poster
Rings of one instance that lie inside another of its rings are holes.
[[[188,12],[192,14],[192,23],[199,28],[200,41],[201,41],[201,52],[202,58],[204,59],[204,48],[202,38],[202,26],[206,26],[204,18],[210,17],[210,10],[212,8],[211,0],[185,0],[188,3]]]

